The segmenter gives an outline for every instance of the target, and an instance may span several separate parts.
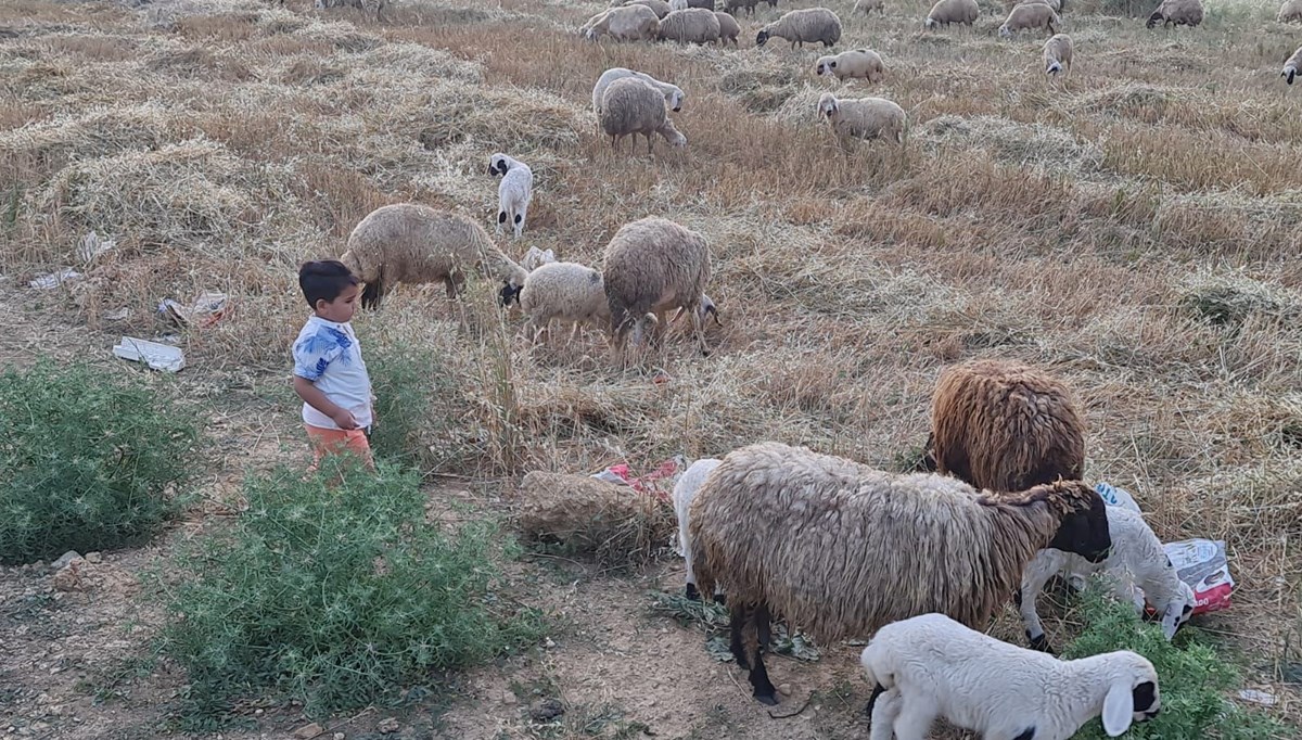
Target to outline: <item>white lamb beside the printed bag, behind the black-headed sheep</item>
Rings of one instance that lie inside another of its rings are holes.
[[[1022,588],[1016,601],[1022,614],[1022,624],[1026,627],[1026,640],[1032,650],[1053,651],[1044,637],[1044,625],[1040,624],[1039,614],[1035,611],[1035,601],[1044,584],[1056,573],[1064,577],[1085,577],[1105,572],[1112,581],[1113,593],[1134,603],[1137,612],[1143,614],[1144,601],[1152,603],[1161,619],[1161,631],[1167,640],[1174,637],[1176,631],[1193,615],[1198,603],[1194,590],[1180,580],[1161,547],[1161,541],[1144,522],[1143,515],[1121,507],[1108,507],[1107,511],[1108,534],[1112,537],[1112,550],[1107,560],[1094,564],[1086,563],[1079,555],[1040,550],[1022,572]]]

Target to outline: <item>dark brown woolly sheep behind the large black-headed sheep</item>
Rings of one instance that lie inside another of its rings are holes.
[[[950,365],[931,397],[936,472],[1022,491],[1085,472],[1085,421],[1066,386],[1019,362]]]

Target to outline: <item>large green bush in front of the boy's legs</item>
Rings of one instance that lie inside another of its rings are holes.
[[[220,722],[256,688],[311,715],[396,700],[542,634],[501,593],[516,551],[493,524],[428,524],[414,470],[355,465],[250,478],[234,525],[178,554],[161,650],[189,671],[184,722]]]

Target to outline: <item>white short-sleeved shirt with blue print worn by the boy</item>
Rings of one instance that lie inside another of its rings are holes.
[[[294,340],[294,375],[312,382],[326,397],[353,412],[358,429],[371,426],[371,377],[362,361],[362,345],[346,323],[312,315]],[[328,416],[303,404],[303,423],[339,429]]]

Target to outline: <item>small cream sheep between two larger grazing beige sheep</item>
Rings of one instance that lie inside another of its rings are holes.
[[[534,341],[556,319],[573,324],[570,339],[582,323],[604,328],[611,322],[602,274],[574,262],[540,264],[525,279],[519,307],[529,317],[525,330]]]

